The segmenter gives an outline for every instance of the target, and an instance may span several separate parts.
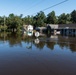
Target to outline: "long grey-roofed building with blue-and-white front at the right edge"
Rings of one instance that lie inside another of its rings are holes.
[[[60,32],[60,34],[66,35],[76,35],[76,24],[48,24],[51,29],[55,30],[56,32]]]

